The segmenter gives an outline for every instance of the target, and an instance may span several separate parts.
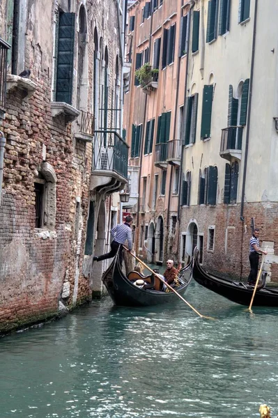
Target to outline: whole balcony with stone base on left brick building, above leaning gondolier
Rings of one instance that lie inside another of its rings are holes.
[[[114,130],[95,130],[91,190],[111,194],[128,183],[128,144]]]

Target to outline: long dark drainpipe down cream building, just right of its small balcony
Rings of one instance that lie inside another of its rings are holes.
[[[247,128],[246,128],[246,144],[245,144],[245,163],[243,167],[243,179],[242,179],[242,194],[241,194],[241,206],[240,206],[240,220],[244,222],[244,199],[245,199],[245,183],[247,173],[247,159],[248,159],[248,148],[249,148],[249,132],[250,132],[250,115],[252,106],[252,88],[254,78],[254,61],[255,61],[255,47],[256,47],[256,26],[257,26],[257,13],[258,12],[258,0],[255,0],[254,8],[254,29],[253,29],[253,45],[252,45],[252,59],[251,59],[251,71],[250,71],[250,83],[249,83],[249,103],[247,111]]]

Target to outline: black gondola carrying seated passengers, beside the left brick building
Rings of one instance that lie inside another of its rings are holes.
[[[185,294],[192,279],[191,265],[192,263],[185,266],[178,274],[181,284],[175,290],[180,295]],[[144,280],[148,281],[150,278],[151,276],[144,277]],[[159,281],[157,278],[155,280]],[[153,288],[137,287],[134,281],[132,281],[130,274],[126,277],[123,273],[118,255],[103,274],[102,282],[105,284],[107,292],[114,304],[122,307],[148,307],[157,304],[172,303],[179,299],[173,292],[165,293],[164,291],[154,290]]]

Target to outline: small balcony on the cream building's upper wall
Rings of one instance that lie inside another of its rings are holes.
[[[241,160],[242,126],[229,126],[222,129],[220,156],[231,161],[232,158]]]

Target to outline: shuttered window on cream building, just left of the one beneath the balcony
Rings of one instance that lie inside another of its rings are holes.
[[[199,205],[216,205],[217,200],[217,167],[210,166],[200,171],[199,178]]]

